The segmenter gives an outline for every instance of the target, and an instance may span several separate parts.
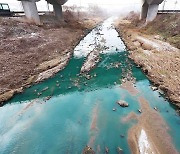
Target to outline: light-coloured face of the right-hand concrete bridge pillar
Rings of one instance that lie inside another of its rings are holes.
[[[159,7],[158,4],[149,5],[146,22],[151,22],[156,18],[158,13],[158,7]]]

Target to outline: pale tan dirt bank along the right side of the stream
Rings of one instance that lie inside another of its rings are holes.
[[[165,97],[180,108],[180,50],[177,45],[174,47],[165,42],[160,33],[148,33],[146,29],[152,27],[152,23],[140,27],[139,23],[134,22],[128,18],[116,23],[129,49],[129,57],[142,67],[152,83],[165,93]]]

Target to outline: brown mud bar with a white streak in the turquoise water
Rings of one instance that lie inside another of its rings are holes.
[[[130,85],[129,83],[128,85],[126,90],[128,90],[130,94],[133,95],[132,91],[138,93],[133,85]],[[132,153],[178,153],[173,146],[171,136],[168,133],[169,128],[159,112],[152,109],[142,96],[138,96],[138,101],[142,113],[139,115],[131,112],[129,115],[122,118],[123,122],[128,122],[130,120],[137,121],[137,124],[128,132],[128,143]]]

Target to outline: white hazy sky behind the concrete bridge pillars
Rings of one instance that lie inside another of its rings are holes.
[[[178,9],[180,10],[180,0],[166,0],[165,9]],[[175,5],[175,2],[177,4]],[[10,5],[10,9],[22,10],[21,3],[17,0],[0,0],[0,3],[8,3]],[[65,5],[81,5],[88,6],[89,4],[97,4],[101,7],[106,8],[107,10],[140,10],[141,0],[68,0]],[[162,9],[163,4],[159,6],[159,9]],[[176,7],[175,7],[176,6]],[[47,10],[47,3],[45,0],[41,0],[37,3],[37,7],[39,11]]]

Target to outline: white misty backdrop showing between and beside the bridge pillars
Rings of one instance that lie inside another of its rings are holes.
[[[0,0],[0,3],[8,3],[11,11],[22,11],[21,2],[17,0]],[[45,0],[36,3],[38,11],[48,11],[48,5]],[[128,13],[130,11],[140,12],[141,0],[68,0],[64,6],[80,6],[81,9],[86,10],[89,6],[97,5],[108,13]],[[159,5],[159,10],[163,9],[164,2]],[[53,10],[49,4],[50,11]],[[165,10],[180,10],[180,0],[166,0]]]

